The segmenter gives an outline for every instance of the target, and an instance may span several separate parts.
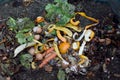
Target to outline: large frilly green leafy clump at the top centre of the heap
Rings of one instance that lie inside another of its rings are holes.
[[[54,0],[55,4],[48,4],[45,7],[46,17],[57,25],[64,26],[73,17],[75,6],[67,0]]]

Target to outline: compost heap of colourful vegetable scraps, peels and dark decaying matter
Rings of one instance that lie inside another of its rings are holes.
[[[15,1],[12,6],[18,3],[18,7],[29,7],[35,2]],[[94,1],[80,1],[77,6],[77,1],[70,3],[54,0],[44,6],[45,13],[34,19],[1,17],[0,79],[120,78],[120,24],[114,13],[104,5],[107,12],[95,14],[91,9]],[[98,9],[102,12],[102,7]]]

